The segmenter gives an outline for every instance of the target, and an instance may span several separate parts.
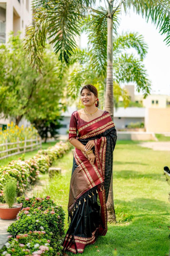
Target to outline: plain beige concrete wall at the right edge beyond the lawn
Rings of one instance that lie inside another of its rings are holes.
[[[147,132],[170,132],[170,108],[148,108]]]

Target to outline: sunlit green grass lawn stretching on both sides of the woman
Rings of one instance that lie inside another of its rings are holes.
[[[170,153],[167,151],[142,148],[133,141],[118,141],[113,166],[117,224],[109,224],[106,236],[86,246],[84,256],[168,255],[170,187],[163,175],[163,167],[170,165],[169,159]],[[39,195],[50,195],[63,205],[66,229],[72,162],[71,151],[58,159],[54,164],[62,169],[62,175],[51,179],[48,187]]]

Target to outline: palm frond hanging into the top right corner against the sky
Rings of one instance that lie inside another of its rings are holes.
[[[170,45],[170,1],[168,0],[124,0],[123,6],[125,12],[127,8],[134,8],[136,13],[141,13],[142,16],[146,17],[148,21],[151,18],[151,21],[156,24],[159,28],[161,35],[166,35],[164,41],[167,45]]]

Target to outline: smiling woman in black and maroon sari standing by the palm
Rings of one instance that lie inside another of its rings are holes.
[[[73,253],[82,253],[87,244],[107,232],[106,202],[117,139],[109,112],[97,108],[96,87],[84,86],[81,102],[85,108],[72,113],[69,127],[75,150],[68,202],[71,222],[63,250]]]

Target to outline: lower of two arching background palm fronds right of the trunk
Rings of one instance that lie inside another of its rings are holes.
[[[136,59],[133,54],[122,54],[113,62],[114,80],[118,83],[135,82],[137,91],[143,92],[146,97],[151,90],[151,81],[147,78],[147,71],[140,59]]]

